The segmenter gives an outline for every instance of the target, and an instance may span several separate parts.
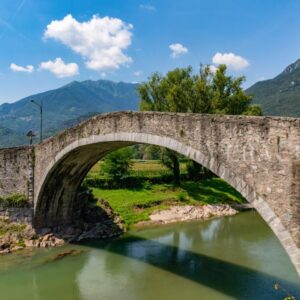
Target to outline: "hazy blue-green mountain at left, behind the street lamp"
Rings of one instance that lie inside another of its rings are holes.
[[[73,81],[58,89],[0,105],[0,148],[26,144],[26,133],[39,132],[39,108],[30,102],[43,101],[44,135],[101,112],[137,110],[137,84],[108,80]],[[25,138],[24,138],[25,137]]]

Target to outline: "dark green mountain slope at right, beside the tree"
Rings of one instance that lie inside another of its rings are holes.
[[[300,117],[300,59],[273,79],[259,81],[246,92],[265,115]]]

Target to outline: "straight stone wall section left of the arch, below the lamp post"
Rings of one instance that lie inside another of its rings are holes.
[[[22,194],[33,201],[34,148],[0,149],[0,197]]]

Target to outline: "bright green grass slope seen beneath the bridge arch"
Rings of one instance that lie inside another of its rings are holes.
[[[140,189],[97,189],[93,188],[97,198],[103,198],[122,217],[127,227],[140,221],[149,220],[152,212],[162,210],[174,204],[220,204],[245,199],[220,178],[201,182],[183,182],[180,187],[171,184],[157,184]]]

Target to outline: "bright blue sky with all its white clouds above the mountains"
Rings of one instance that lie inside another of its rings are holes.
[[[300,58],[298,0],[1,0],[0,104],[73,80],[225,62],[249,86]]]

